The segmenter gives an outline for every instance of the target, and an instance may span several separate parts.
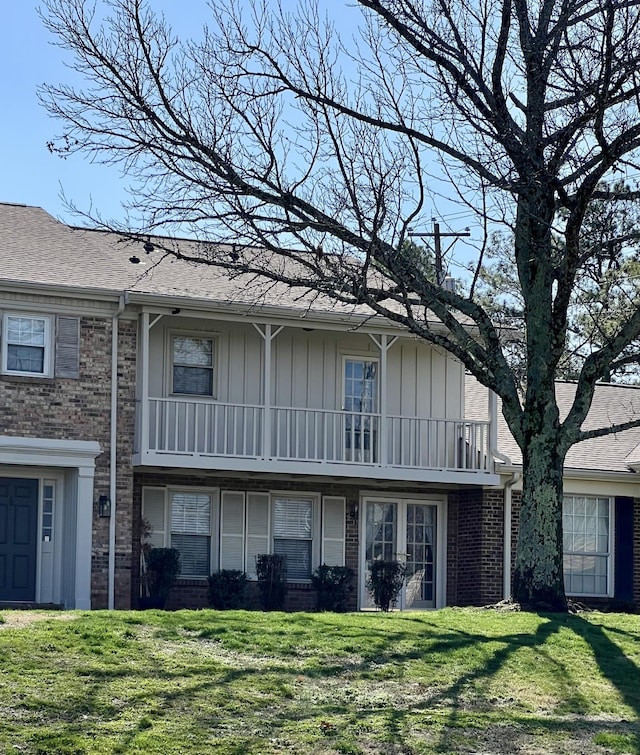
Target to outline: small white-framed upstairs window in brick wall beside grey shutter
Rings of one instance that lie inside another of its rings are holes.
[[[2,331],[2,371],[12,375],[50,374],[50,319],[6,315]]]

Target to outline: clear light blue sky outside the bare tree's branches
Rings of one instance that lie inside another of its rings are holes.
[[[295,0],[284,2],[294,4]],[[336,0],[326,2],[332,6]],[[62,124],[48,115],[36,92],[43,83],[69,83],[72,72],[65,66],[65,51],[52,44],[37,13],[38,4],[37,0],[0,0],[0,202],[42,207],[65,223],[83,224],[65,207],[64,195],[80,209],[97,209],[103,218],[123,220],[126,176],[114,167],[91,164],[86,157],[62,159],[47,149]],[[166,14],[182,38],[199,36],[207,18],[206,0],[150,0],[150,5]],[[342,33],[349,33],[345,29],[349,16],[355,20],[353,7],[341,16]],[[463,230],[473,224],[473,217],[468,212],[466,217],[461,215],[459,207],[445,209],[443,203],[439,209],[436,213],[434,208],[433,214],[440,219],[443,212],[450,213],[448,219],[444,216],[442,230]]]

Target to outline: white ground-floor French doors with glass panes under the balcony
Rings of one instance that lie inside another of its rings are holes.
[[[413,500],[366,500],[364,503],[364,547],[362,607],[373,602],[366,580],[369,563],[375,559],[398,560],[406,565],[404,589],[397,607],[435,608],[437,600],[437,518],[433,502]]]

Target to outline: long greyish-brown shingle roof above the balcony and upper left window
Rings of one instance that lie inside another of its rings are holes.
[[[296,309],[301,315],[307,311],[371,315],[367,308],[340,305],[303,289],[249,275],[230,279],[219,268],[177,261],[158,250],[147,254],[141,243],[72,228],[39,207],[0,203],[0,239],[0,282],[264,305]],[[140,262],[132,264],[132,256]]]

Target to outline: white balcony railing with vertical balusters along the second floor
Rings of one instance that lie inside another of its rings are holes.
[[[139,419],[139,465],[497,482],[488,422],[175,398],[149,398]]]

